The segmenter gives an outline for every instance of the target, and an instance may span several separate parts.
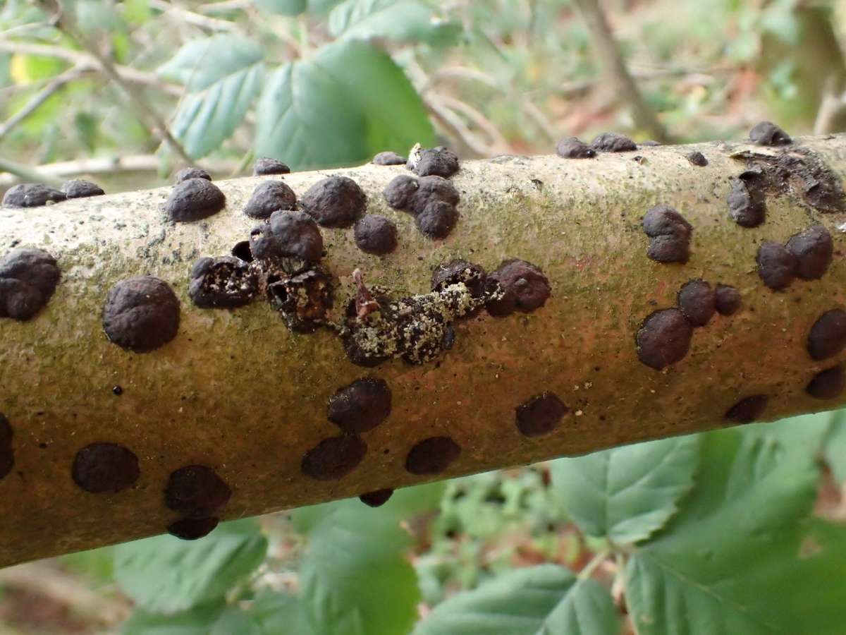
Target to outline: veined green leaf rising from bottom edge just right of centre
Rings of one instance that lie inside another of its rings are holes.
[[[607,588],[563,566],[517,569],[437,605],[414,635],[613,635]]]

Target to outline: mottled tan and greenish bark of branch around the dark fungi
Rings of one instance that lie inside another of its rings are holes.
[[[453,323],[452,347],[437,362],[418,366],[401,359],[355,366],[336,332],[293,333],[263,297],[235,309],[195,306],[195,261],[228,255],[249,237],[255,220],[243,208],[261,178],[216,182],[226,207],[193,223],[168,222],[170,188],[0,208],[0,258],[34,247],[61,269],[35,317],[0,318],[0,413],[14,432],[14,466],[0,479],[0,565],[165,532],[180,516],[165,505],[164,489],[184,466],[219,475],[232,492],[219,515],[234,518],[727,425],[725,413],[749,395],[768,395],[767,420],[838,406],[843,396],[822,402],[805,387],[846,361],[842,350],[815,361],[807,347],[816,320],[846,306],[846,235],[838,229],[846,213],[832,211],[828,199],[819,210],[775,188],[766,193],[763,224],[746,229],[728,213],[731,179],[755,153],[799,146],[842,181],[846,135],[778,148],[641,147],[640,163],[630,153],[462,162],[450,179],[460,218],[445,240],[421,235],[413,216],[385,202],[382,191],[407,174],[404,166],[286,174],[298,197],[330,174],[354,179],[367,213],[397,225],[398,248],[382,257],[358,249],[351,227],[321,228],[321,263],[337,281],[336,323],[355,294],[356,268],[371,288],[399,296],[428,292],[433,268],[456,258],[489,272],[520,259],[547,277],[543,306],[498,318],[474,312]],[[708,157],[706,166],[691,165],[695,151]],[[646,256],[641,218],[658,204],[693,227],[684,264]],[[785,244],[816,224],[832,235],[827,272],[768,289],[755,263],[761,243]],[[109,342],[102,329],[107,291],[140,275],[165,281],[180,305],[173,340],[143,354]],[[736,288],[739,310],[695,329],[680,361],[660,371],[646,366],[635,347],[641,324],[676,306],[691,279]],[[389,416],[360,433],[366,452],[349,473],[310,478],[305,454],[338,435],[329,398],[367,377],[387,383]],[[545,392],[568,410],[549,433],[526,437],[515,411]],[[415,444],[442,437],[460,448],[444,472],[406,469]],[[138,457],[131,487],[92,494],[74,483],[74,456],[95,443]]]

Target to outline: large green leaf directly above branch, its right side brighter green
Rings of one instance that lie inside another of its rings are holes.
[[[357,40],[277,69],[256,111],[255,153],[292,168],[363,163],[376,152],[431,145],[426,108],[402,69]]]

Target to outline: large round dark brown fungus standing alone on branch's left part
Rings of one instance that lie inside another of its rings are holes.
[[[106,296],[102,324],[113,344],[136,353],[155,351],[179,331],[179,300],[164,280],[121,280]]]

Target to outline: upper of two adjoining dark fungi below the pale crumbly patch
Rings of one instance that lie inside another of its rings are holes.
[[[390,414],[391,389],[384,379],[356,379],[329,397],[327,417],[346,433],[372,430]]]

